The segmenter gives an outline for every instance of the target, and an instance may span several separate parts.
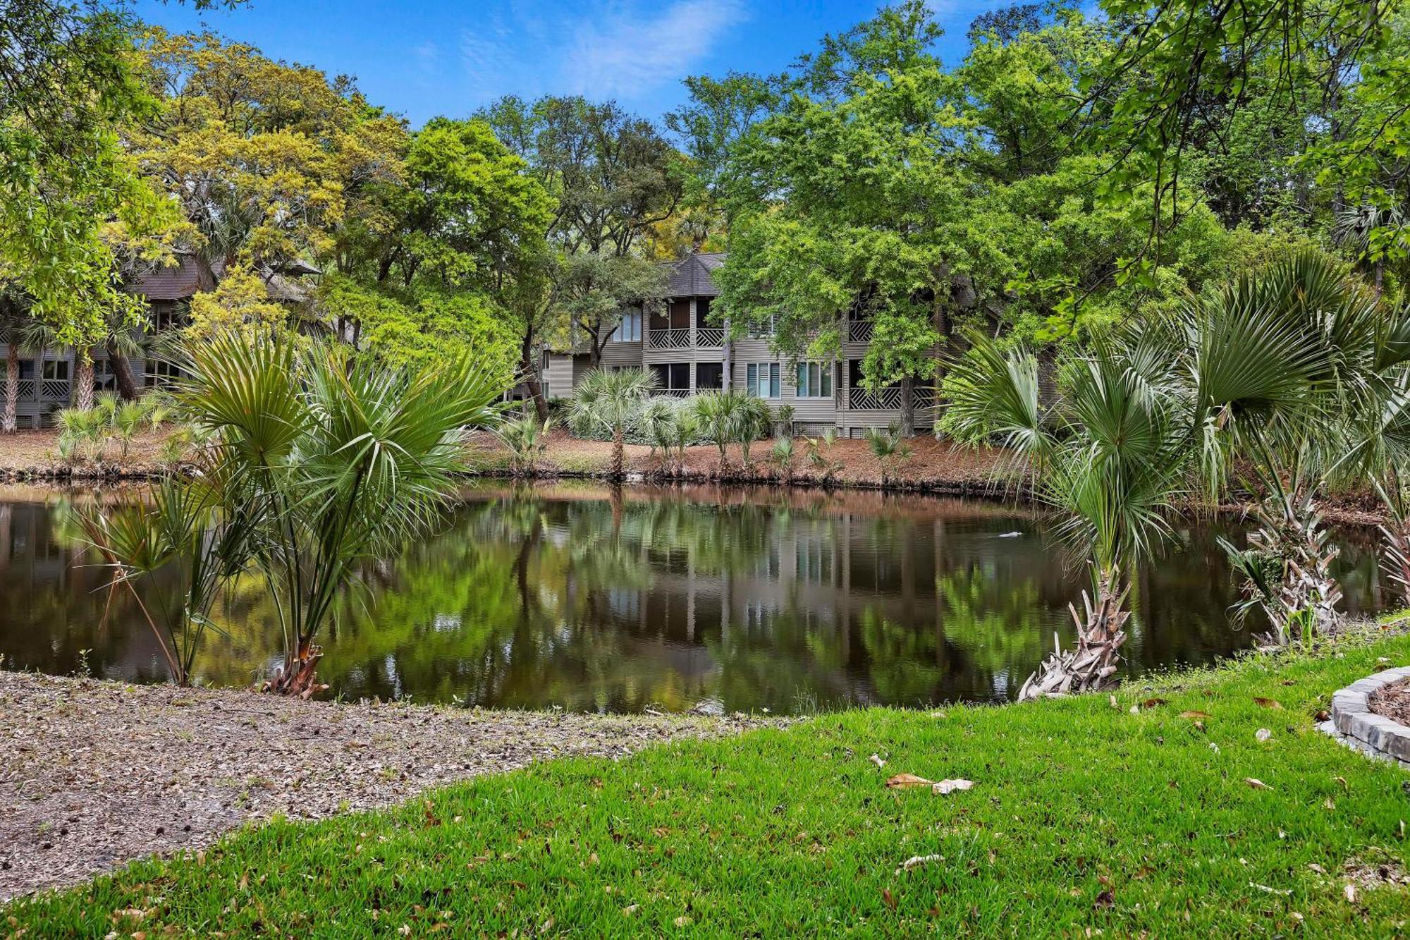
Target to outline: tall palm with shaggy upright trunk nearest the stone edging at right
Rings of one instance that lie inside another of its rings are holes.
[[[1348,433],[1383,412],[1410,356],[1410,325],[1345,265],[1303,251],[1191,305],[1187,374],[1196,446],[1210,494],[1234,457],[1262,494],[1251,548],[1225,545],[1272,642],[1310,639],[1341,596],[1316,498],[1351,466]]]

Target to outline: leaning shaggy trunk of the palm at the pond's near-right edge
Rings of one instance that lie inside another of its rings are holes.
[[[1086,618],[1077,613],[1076,605],[1067,605],[1067,610],[1072,611],[1072,620],[1077,625],[1077,649],[1063,652],[1055,648],[1052,655],[1038,668],[1038,672],[1024,683],[1018,693],[1019,701],[1100,692],[1114,685],[1111,676],[1115,675],[1117,662],[1121,659],[1117,651],[1127,641],[1122,628],[1127,617],[1131,615],[1125,608],[1131,586],[1120,587],[1118,584],[1117,572],[1098,574],[1096,604],[1087,597],[1087,591],[1081,593]],[[1056,641],[1055,634],[1055,646]]]

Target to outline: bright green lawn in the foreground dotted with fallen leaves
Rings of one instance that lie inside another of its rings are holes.
[[[1166,675],[1118,707],[845,711],[551,762],[248,828],[20,900],[0,923],[31,937],[1385,937],[1404,932],[1410,895],[1349,899],[1345,865],[1404,864],[1410,775],[1313,727],[1379,658],[1410,662],[1410,638]],[[895,772],[976,786],[888,790]]]

